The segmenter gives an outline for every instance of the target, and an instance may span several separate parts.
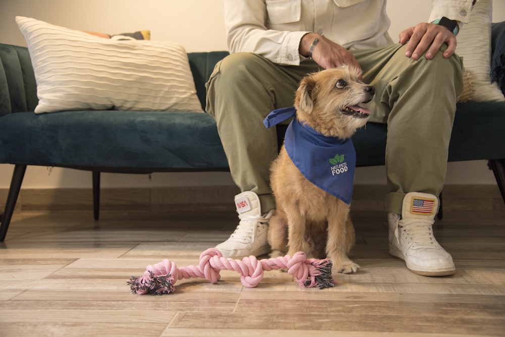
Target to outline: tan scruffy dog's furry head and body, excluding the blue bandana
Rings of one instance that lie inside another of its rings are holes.
[[[352,136],[369,115],[348,107],[368,103],[375,94],[373,86],[359,80],[360,74],[340,67],[306,76],[296,91],[298,120],[325,136]],[[356,239],[349,205],[309,182],[284,145],[272,163],[270,178],[277,204],[269,221],[271,256],[303,251],[308,257],[330,258],[339,272],[356,272],[360,266],[347,257]]]

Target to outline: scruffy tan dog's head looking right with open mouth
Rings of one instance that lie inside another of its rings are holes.
[[[364,104],[375,88],[359,80],[354,67],[327,69],[300,81],[294,105],[297,118],[325,136],[349,138],[367,123],[370,110]]]

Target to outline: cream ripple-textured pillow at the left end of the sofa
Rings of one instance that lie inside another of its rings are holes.
[[[204,111],[184,47],[116,41],[16,17],[32,60],[35,113],[62,110]]]

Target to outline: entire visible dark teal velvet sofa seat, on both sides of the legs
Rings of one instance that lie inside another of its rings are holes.
[[[505,158],[495,141],[502,134],[496,125],[505,125],[502,109],[501,102],[459,103],[448,160]],[[128,173],[229,170],[216,122],[203,113],[25,112],[2,117],[2,128],[0,162]],[[378,123],[358,130],[352,138],[358,166],[384,164],[385,131]]]

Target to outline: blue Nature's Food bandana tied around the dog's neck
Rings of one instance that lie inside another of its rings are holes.
[[[270,128],[295,115],[294,107],[281,108],[272,111],[263,123]],[[284,146],[305,178],[346,204],[350,203],[356,168],[356,151],[350,138],[323,136],[295,118],[286,130]]]

